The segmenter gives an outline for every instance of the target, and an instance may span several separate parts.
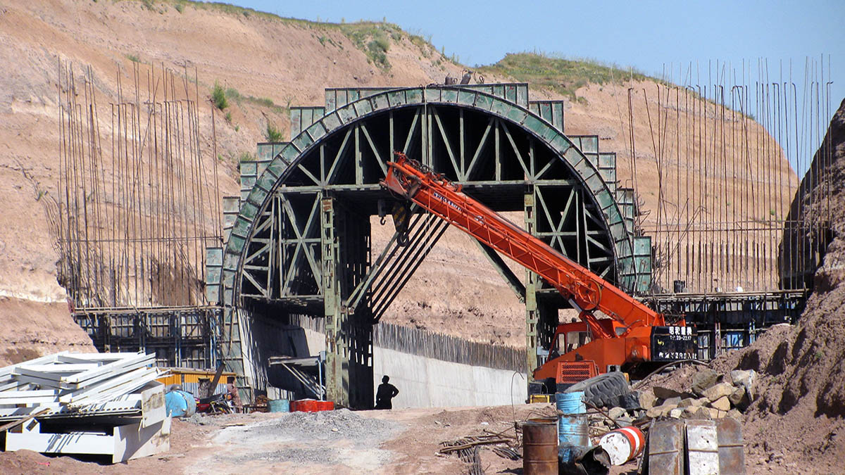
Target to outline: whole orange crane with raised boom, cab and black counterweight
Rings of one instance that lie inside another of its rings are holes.
[[[581,322],[559,325],[553,341],[576,330],[586,330],[591,341],[550,358],[534,371],[534,379],[558,377],[561,363],[565,369],[567,363],[592,362],[597,367],[593,373],[604,373],[611,367],[632,363],[695,358],[691,328],[685,327],[683,321],[680,325],[666,326],[662,314],[461,193],[461,185],[451,183],[400,152],[395,152],[395,156],[397,160],[388,163],[387,177],[381,182],[384,188],[411,199],[424,210],[537,273],[579,310]],[[598,319],[595,311],[610,318]],[[661,348],[655,350],[655,346]],[[590,375],[584,374],[581,379]]]

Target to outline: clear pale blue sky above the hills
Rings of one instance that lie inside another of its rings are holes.
[[[738,83],[753,85],[757,64],[765,59],[769,78],[778,82],[781,77],[789,80],[791,61],[800,91],[808,58],[817,72],[823,58],[824,79],[819,81],[833,81],[831,113],[845,98],[845,0],[229,1],[315,21],[386,19],[430,37],[446,55],[454,54],[471,67],[496,63],[508,52],[543,52],[633,67],[658,77],[671,70],[673,77],[667,79],[676,84],[705,85],[708,63],[727,62],[741,72],[745,61],[755,73],[750,81]],[[679,68],[685,75],[690,65],[701,76],[681,79]]]

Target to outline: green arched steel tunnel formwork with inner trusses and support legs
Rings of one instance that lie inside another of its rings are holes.
[[[379,186],[392,150],[494,210],[520,211],[530,232],[629,292],[650,286],[650,241],[635,236],[633,193],[617,188],[615,156],[598,152],[597,137],[564,135],[549,103],[528,103],[526,85],[326,96],[325,108],[294,111],[302,131],[248,180],[222,255],[222,357],[250,385],[262,384],[267,356],[250,308],[270,305],[325,317],[330,399],[372,404],[373,321],[444,229],[412,212],[406,245],[395,235],[386,248],[371,249],[369,216],[395,204]],[[303,122],[303,112],[312,120]],[[523,282],[492,249],[479,248],[526,303],[530,370],[567,304],[536,275]]]

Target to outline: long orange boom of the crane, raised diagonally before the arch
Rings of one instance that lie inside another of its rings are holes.
[[[593,337],[617,335],[597,325],[593,310],[618,320],[630,328],[665,325],[662,314],[632,298],[608,281],[508,221],[496,211],[461,193],[461,186],[428,170],[417,161],[395,152],[397,160],[388,163],[382,185],[423,209],[440,216],[455,227],[477,238],[528,270],[542,276],[564,298],[581,308],[581,318]],[[627,331],[621,336],[627,334]]]

